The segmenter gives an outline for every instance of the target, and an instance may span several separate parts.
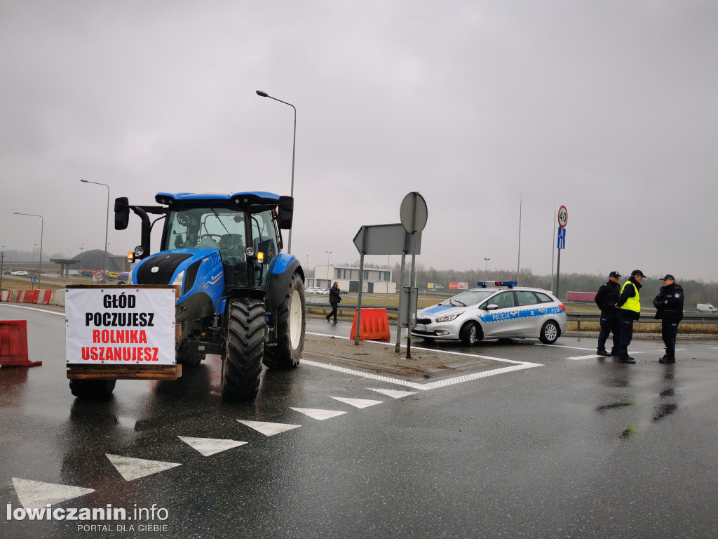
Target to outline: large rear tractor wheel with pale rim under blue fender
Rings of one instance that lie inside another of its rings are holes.
[[[270,369],[292,369],[299,365],[307,328],[304,286],[296,273],[276,313],[276,346],[264,349],[264,364]]]

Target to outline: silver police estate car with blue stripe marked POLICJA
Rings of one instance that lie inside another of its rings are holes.
[[[479,281],[478,287],[419,310],[411,335],[426,341],[460,340],[466,346],[490,338],[539,338],[554,344],[566,331],[566,307],[540,288],[516,281]]]

